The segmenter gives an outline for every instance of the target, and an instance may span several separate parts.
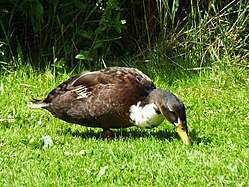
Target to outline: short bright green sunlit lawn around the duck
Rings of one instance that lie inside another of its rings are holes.
[[[248,69],[178,71],[147,70],[185,103],[191,147],[168,122],[102,140],[101,129],[27,107],[67,79],[66,71],[2,72],[0,118],[15,121],[0,122],[0,186],[249,186]],[[44,135],[50,148],[39,142]]]

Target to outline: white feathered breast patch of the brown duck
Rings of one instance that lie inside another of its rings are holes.
[[[164,116],[156,112],[158,107],[154,103],[147,104],[144,107],[141,107],[140,103],[138,102],[130,107],[130,119],[134,125],[142,128],[153,128],[163,122]]]

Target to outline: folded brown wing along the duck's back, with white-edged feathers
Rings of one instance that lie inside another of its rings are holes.
[[[85,95],[96,95],[99,89],[108,87],[114,89],[116,93],[133,89],[138,94],[147,95],[155,89],[151,79],[135,68],[111,67],[100,71],[87,72],[67,86],[68,90],[76,91]],[[79,95],[79,98],[81,96]]]

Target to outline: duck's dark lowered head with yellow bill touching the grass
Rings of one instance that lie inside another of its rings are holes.
[[[163,89],[155,89],[149,94],[163,116],[176,127],[176,131],[185,144],[190,145],[184,104],[174,94]]]

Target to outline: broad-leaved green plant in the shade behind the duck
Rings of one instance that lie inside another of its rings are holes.
[[[79,30],[80,36],[84,41],[88,40],[89,45],[85,47],[85,50],[81,50],[80,54],[76,56],[77,59],[93,61],[100,55],[106,57],[109,54],[112,42],[120,39],[118,35],[124,29],[124,21],[120,17],[119,3],[117,0],[110,0],[105,3],[99,1],[96,4],[97,9],[102,13],[98,27],[89,31]]]

